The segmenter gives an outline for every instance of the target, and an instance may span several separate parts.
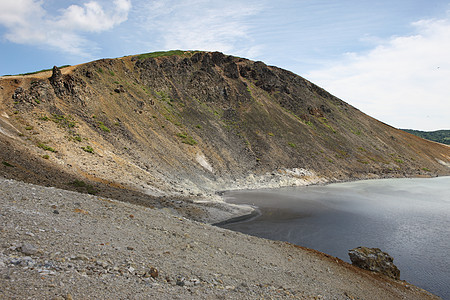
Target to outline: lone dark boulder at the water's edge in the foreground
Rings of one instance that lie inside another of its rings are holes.
[[[394,258],[378,248],[358,247],[349,250],[348,255],[354,266],[400,279],[400,270],[394,265]]]

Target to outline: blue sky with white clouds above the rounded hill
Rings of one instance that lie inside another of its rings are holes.
[[[397,128],[450,129],[450,0],[0,0],[0,75],[174,49],[290,70]]]

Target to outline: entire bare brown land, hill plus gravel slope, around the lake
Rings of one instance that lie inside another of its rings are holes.
[[[226,189],[450,174],[448,146],[262,62],[170,51],[1,77],[0,161],[0,298],[436,299],[196,222],[252,211]]]

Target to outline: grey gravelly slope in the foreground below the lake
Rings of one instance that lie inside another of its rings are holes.
[[[168,211],[0,177],[0,299],[437,299]]]

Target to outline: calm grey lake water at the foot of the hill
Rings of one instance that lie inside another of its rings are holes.
[[[450,299],[450,177],[235,191],[225,200],[262,214],[221,227],[347,262],[349,249],[380,248],[394,257],[401,279]]]

